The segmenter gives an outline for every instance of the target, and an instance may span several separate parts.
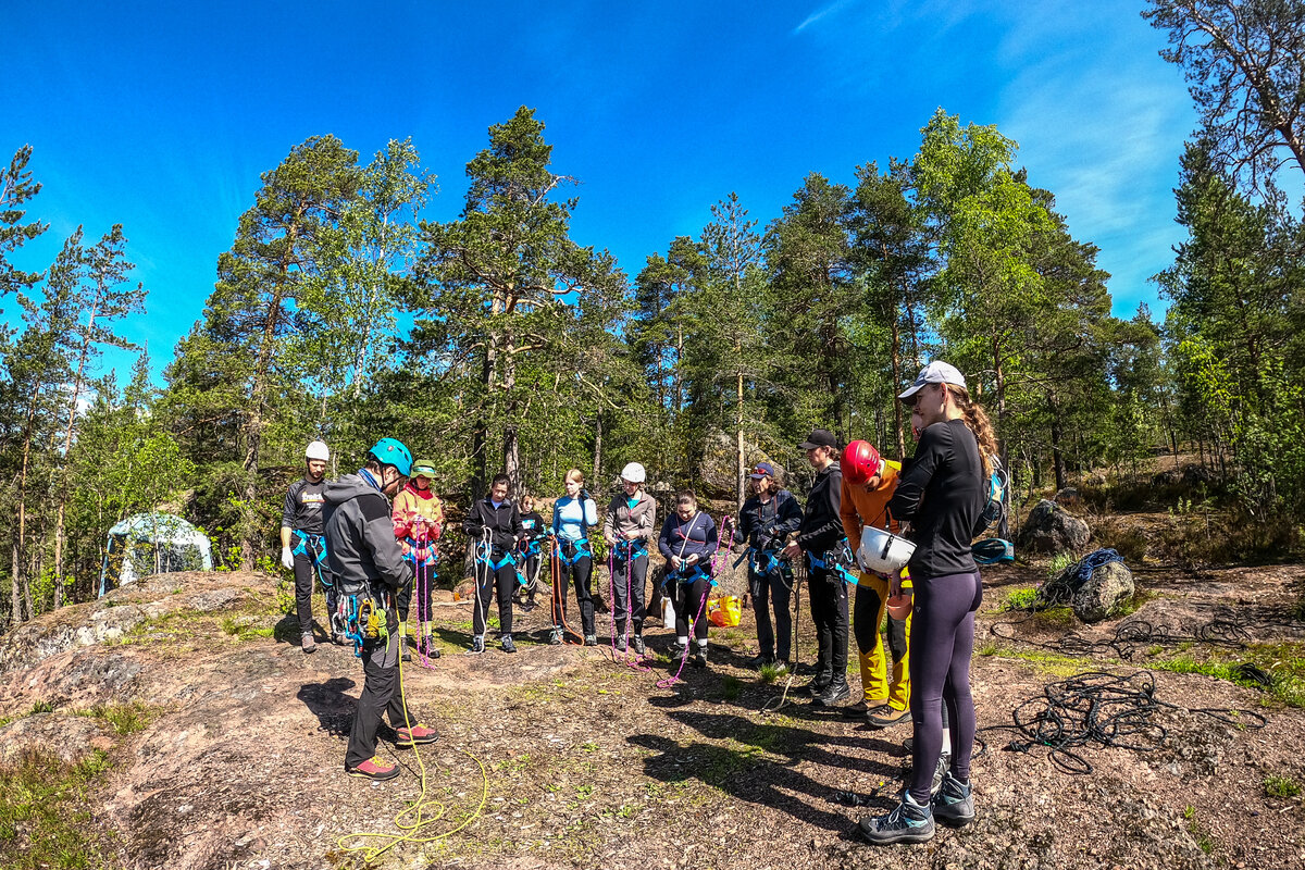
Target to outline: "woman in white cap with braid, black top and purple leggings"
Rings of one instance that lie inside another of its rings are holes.
[[[983,601],[979,567],[970,543],[983,523],[984,481],[997,440],[983,408],[970,399],[966,381],[946,363],[929,363],[899,397],[911,404],[920,429],[915,458],[889,501],[889,511],[910,524],[915,609],[911,617],[911,720],[915,725],[911,779],[902,802],[886,815],[861,819],[870,843],[923,843],[934,819],[962,826],[974,819],[970,757],[975,707],[970,694],[975,610]],[[890,588],[900,592],[900,580]],[[941,788],[930,785],[942,751],[942,704],[946,703],[951,760]]]

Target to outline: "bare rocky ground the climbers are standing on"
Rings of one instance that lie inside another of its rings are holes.
[[[784,680],[767,685],[743,667],[750,614],[713,629],[709,670],[660,689],[672,638],[656,621],[647,634],[660,657],[632,667],[609,646],[543,643],[547,596],[522,620],[515,656],[495,644],[465,655],[470,605],[442,596],[445,655],[405,674],[412,710],[442,738],[420,760],[382,743],[403,776],[369,784],[342,771],[361,682],[350,650],[304,655],[270,578],[151,578],[0,638],[0,764],[33,750],[69,762],[107,751],[112,766],[87,809],[120,867],[361,866],[365,845],[392,845],[372,856],[384,867],[1305,866],[1301,798],[1266,793],[1266,780],[1305,784],[1305,711],[1289,691],[1173,664],[1297,673],[1305,626],[1289,617],[1305,567],[1139,570],[1146,603],[1125,620],[1182,635],[1237,604],[1245,637],[1135,644],[1130,659],[1090,646],[1114,637],[1120,620],[1084,629],[1000,610],[1045,567],[984,577],[981,728],[1011,724],[1044,686],[1092,669],[1169,663],[1154,670],[1155,698],[1173,706],[1131,738],[1138,749],[1078,750],[1086,775],[1045,747],[1006,749],[1009,730],[983,732],[979,817],[927,845],[872,849],[855,835],[857,818],[894,803],[908,725],[874,732],[792,697],[782,703]],[[800,631],[809,661],[810,623]],[[1071,633],[1087,643],[1065,647]],[[147,727],[123,736],[104,716],[76,715],[119,708]],[[395,815],[422,796],[423,766],[428,823],[394,841]]]

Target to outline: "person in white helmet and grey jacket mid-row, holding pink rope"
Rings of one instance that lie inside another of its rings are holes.
[[[616,648],[626,650],[626,618],[633,631],[629,644],[643,655],[643,587],[649,574],[649,540],[652,537],[656,501],[643,489],[647,472],[637,462],[621,470],[622,492],[612,496],[603,522],[609,562],[612,620]]]

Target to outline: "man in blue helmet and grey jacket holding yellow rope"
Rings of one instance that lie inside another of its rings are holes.
[[[432,729],[414,723],[403,706],[403,694],[395,691],[401,635],[394,596],[412,582],[412,567],[394,537],[390,497],[411,470],[408,449],[394,438],[381,438],[356,475],[326,484],[326,554],[337,593],[350,609],[350,633],[359,643],[364,674],[345,772],[372,780],[399,775],[398,764],[385,764],[376,755],[382,712],[389,713],[390,725],[398,732],[395,746],[432,743],[437,737]],[[369,620],[369,614],[376,618]]]

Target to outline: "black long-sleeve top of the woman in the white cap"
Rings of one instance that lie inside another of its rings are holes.
[[[976,570],[970,543],[985,503],[983,459],[974,433],[963,420],[927,428],[915,458],[903,463],[889,502],[895,519],[911,523],[914,579]]]

